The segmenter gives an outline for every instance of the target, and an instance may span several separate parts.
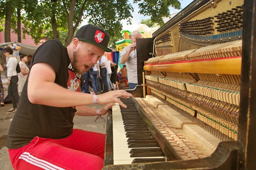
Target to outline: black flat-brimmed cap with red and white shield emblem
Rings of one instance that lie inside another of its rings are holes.
[[[107,47],[109,41],[108,33],[98,26],[94,26],[92,24],[82,26],[76,32],[75,38],[96,45],[97,47],[102,48],[106,52],[112,51],[110,48]]]

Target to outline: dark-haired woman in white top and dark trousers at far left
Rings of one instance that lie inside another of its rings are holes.
[[[9,46],[3,48],[3,53],[6,57],[9,57],[9,61],[6,64],[7,67],[7,85],[8,86],[8,94],[12,99],[12,108],[9,109],[9,112],[16,112],[17,111],[17,104],[20,100],[20,96],[18,94],[17,82],[19,80],[17,76],[16,67],[18,61],[15,57],[12,56],[13,50]]]

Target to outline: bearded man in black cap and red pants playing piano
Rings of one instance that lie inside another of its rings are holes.
[[[103,167],[105,134],[73,129],[73,117],[105,115],[125,91],[81,93],[81,75],[97,63],[109,36],[86,25],[65,48],[58,40],[38,47],[7,139],[15,170],[96,170]],[[85,105],[101,104],[96,110]]]

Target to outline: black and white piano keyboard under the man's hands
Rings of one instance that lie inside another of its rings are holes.
[[[113,164],[165,161],[163,152],[151,136],[132,102],[121,99],[128,108],[112,107]]]

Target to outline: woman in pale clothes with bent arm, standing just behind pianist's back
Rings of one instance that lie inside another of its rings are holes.
[[[20,62],[19,62],[20,78],[19,78],[19,81],[18,81],[18,93],[19,93],[19,95],[22,92],[23,86],[26,82],[26,78],[28,77],[28,74],[29,74],[29,68],[26,65],[27,61],[28,61],[27,56],[25,54],[21,54],[20,55]]]

